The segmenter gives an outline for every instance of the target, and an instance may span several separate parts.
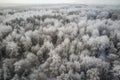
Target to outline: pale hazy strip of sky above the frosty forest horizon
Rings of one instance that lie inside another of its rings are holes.
[[[0,0],[0,7],[31,4],[105,4],[120,5],[120,0]]]

